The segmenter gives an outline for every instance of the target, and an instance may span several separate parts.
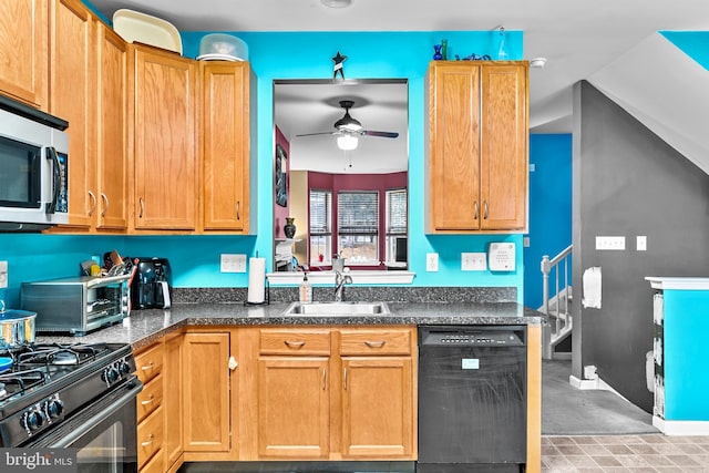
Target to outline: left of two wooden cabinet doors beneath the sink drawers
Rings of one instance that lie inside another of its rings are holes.
[[[322,357],[259,358],[259,457],[328,457],[328,360]]]

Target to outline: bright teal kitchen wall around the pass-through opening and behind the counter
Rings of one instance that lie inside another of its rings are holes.
[[[184,55],[196,56],[205,33],[183,33]],[[60,235],[0,235],[0,260],[9,263],[9,288],[0,298],[19,304],[22,281],[78,274],[79,263],[111,249],[129,256],[161,256],[171,260],[175,287],[246,287],[246,274],[219,273],[222,253],[258,254],[270,257],[273,230],[273,80],[329,79],[331,58],[347,55],[347,79],[399,78],[409,81],[409,188],[410,267],[413,286],[516,287],[523,299],[523,248],[521,235],[427,236],[423,233],[423,130],[424,74],[434,43],[445,38],[449,55],[490,54],[496,49],[496,32],[326,32],[235,33],[249,47],[249,62],[258,76],[257,236],[154,236],[102,237]],[[522,33],[508,31],[512,59],[522,58]],[[461,271],[462,251],[486,251],[491,241],[514,241],[516,270],[511,273]],[[425,271],[425,254],[439,253],[440,270]],[[269,268],[270,269],[270,263]]]

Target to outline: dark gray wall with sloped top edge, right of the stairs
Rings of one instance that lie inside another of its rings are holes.
[[[644,278],[709,276],[709,175],[586,81],[574,86],[573,142],[572,371],[583,379],[595,366],[651,412],[645,367],[654,290]],[[647,236],[646,251],[636,250],[638,235]],[[625,236],[626,248],[596,250],[596,236]],[[590,267],[602,268],[600,309],[580,304]]]

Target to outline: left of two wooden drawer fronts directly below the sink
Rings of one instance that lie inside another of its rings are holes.
[[[330,330],[264,329],[260,354],[330,354]]]

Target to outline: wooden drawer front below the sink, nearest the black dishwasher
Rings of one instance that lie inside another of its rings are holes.
[[[348,354],[410,354],[411,330],[340,330],[340,353]]]

